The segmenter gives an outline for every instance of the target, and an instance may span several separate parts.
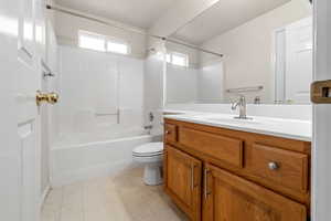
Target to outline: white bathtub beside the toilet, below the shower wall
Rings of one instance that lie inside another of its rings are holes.
[[[149,135],[139,127],[62,135],[51,148],[51,183],[60,187],[135,167],[132,149],[159,140],[160,135]]]

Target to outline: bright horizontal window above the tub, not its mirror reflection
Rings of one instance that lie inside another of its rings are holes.
[[[79,31],[79,48],[95,51],[129,54],[129,45],[120,40],[114,40],[105,35]]]

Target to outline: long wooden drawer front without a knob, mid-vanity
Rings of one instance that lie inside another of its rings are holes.
[[[232,166],[243,167],[243,140],[181,127],[179,143]]]

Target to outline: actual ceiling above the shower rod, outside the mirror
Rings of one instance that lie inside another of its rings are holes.
[[[175,0],[56,0],[56,4],[148,29]]]

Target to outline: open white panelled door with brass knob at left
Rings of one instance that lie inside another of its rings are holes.
[[[33,1],[0,1],[0,220],[38,221],[40,72]]]

